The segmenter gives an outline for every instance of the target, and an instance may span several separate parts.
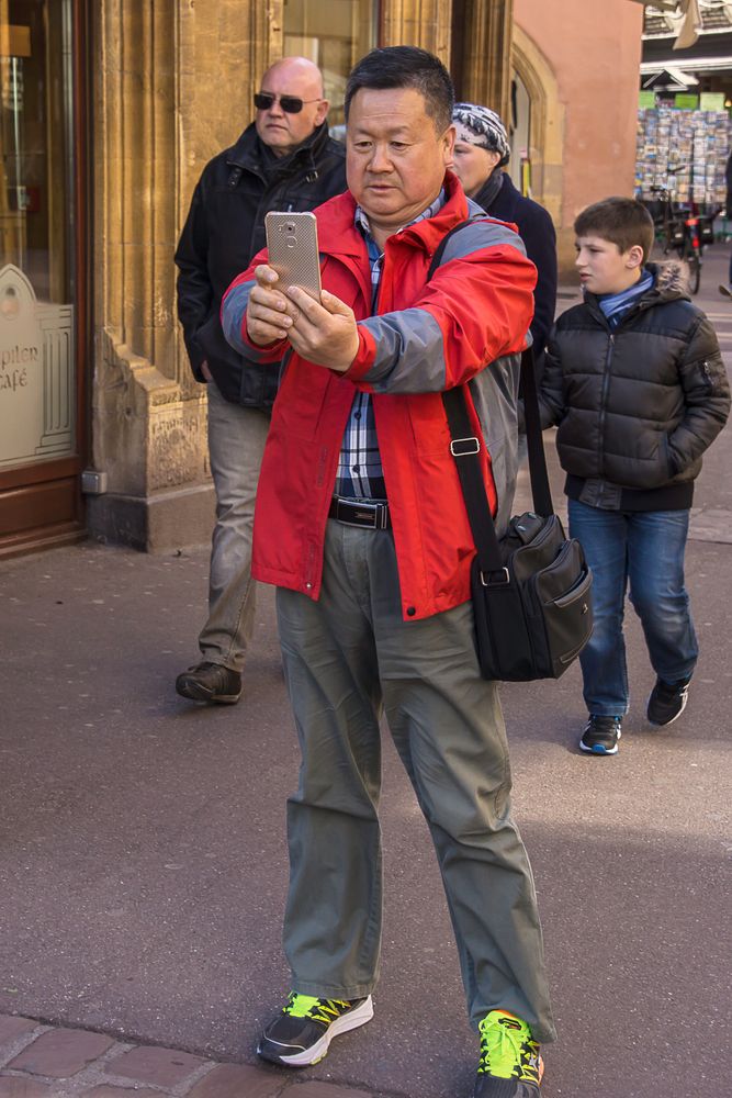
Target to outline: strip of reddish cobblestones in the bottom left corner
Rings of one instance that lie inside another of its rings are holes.
[[[0,1098],[381,1098],[290,1073],[0,1015]]]

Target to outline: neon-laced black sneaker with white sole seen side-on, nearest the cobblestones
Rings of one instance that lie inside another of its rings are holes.
[[[307,1067],[323,1060],[334,1037],[364,1026],[372,1018],[370,995],[351,1000],[316,999],[291,991],[282,1012],[259,1039],[257,1053],[273,1064]]]

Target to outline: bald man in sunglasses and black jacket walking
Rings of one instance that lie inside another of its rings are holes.
[[[224,339],[226,287],[264,246],[269,210],[313,210],[346,189],[344,147],[328,135],[323,77],[285,57],[262,77],[255,121],[204,168],[176,253],[178,316],[196,381],[207,385],[209,451],[216,492],[209,617],[201,660],[176,690],[196,702],[234,704],[251,640],[251,535],[279,371],[245,362]]]

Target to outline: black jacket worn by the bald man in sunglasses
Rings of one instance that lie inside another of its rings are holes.
[[[327,123],[292,156],[277,159],[255,124],[203,169],[176,251],[178,317],[196,381],[206,360],[223,395],[249,407],[270,407],[278,371],[255,366],[226,343],[218,312],[232,281],[264,247],[270,210],[314,210],[346,190],[346,150]]]

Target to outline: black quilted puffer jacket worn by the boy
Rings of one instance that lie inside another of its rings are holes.
[[[678,265],[613,330],[597,299],[560,316],[540,391],[542,425],[559,424],[566,492],[590,506],[666,511],[691,505],[701,455],[730,413],[730,384],[705,314]]]

